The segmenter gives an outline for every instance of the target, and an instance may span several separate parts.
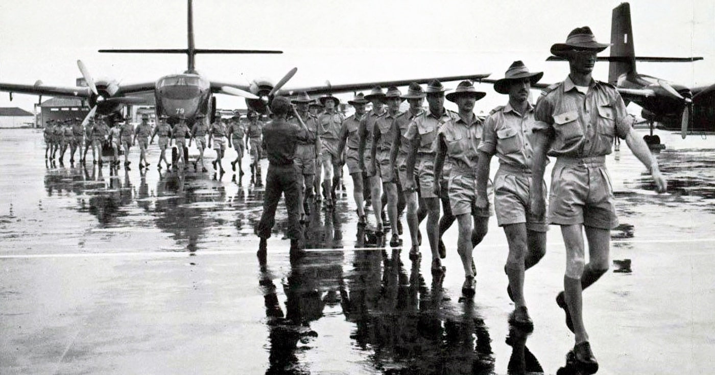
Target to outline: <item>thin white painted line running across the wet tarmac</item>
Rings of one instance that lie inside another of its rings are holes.
[[[715,243],[715,238],[694,238],[690,240],[611,240],[611,243]],[[550,242],[547,245],[563,245],[563,242]],[[482,248],[506,248],[506,243],[492,245],[478,245]],[[371,248],[308,248],[307,253],[330,253],[335,251],[374,251],[374,250],[394,250],[408,249],[408,246],[391,247],[371,247]],[[289,250],[282,248],[280,250],[270,250],[269,253],[289,253]],[[59,253],[59,254],[12,254],[0,255],[0,259],[29,259],[29,258],[122,258],[122,257],[137,257],[137,258],[183,258],[185,256],[194,255],[243,255],[255,254],[255,250],[199,250],[197,252],[189,251],[147,251],[147,252],[122,252],[122,253]]]

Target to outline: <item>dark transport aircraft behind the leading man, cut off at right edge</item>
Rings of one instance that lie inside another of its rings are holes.
[[[608,61],[608,83],[618,88],[621,97],[643,107],[641,116],[651,125],[649,144],[660,143],[653,137],[654,122],[666,129],[680,129],[685,138],[688,130],[715,130],[715,84],[686,87],[636,72],[636,61],[643,62],[694,62],[702,57],[638,57],[633,43],[631,6],[621,3],[613,8],[611,18],[611,55],[598,57]],[[563,60],[549,57],[551,61]]]

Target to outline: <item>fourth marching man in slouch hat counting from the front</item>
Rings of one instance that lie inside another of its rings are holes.
[[[440,258],[446,256],[445,253],[440,252],[438,245],[440,197],[434,193],[437,137],[440,127],[446,122],[458,118],[456,113],[448,111],[444,107],[445,91],[447,90],[436,80],[428,84],[426,97],[429,110],[415,117],[404,135],[405,140],[410,142],[410,151],[405,162],[403,189],[405,192],[418,189],[420,192],[419,206],[424,207],[427,211],[427,238],[432,251],[431,270],[435,276],[443,273],[444,268]],[[400,178],[403,178],[402,175]],[[414,195],[414,193],[411,194]],[[415,212],[418,210],[418,206],[415,202],[410,203],[412,199],[408,199],[408,220],[411,216],[418,220],[419,225],[420,218],[418,212]],[[413,251],[410,250],[410,253]]]

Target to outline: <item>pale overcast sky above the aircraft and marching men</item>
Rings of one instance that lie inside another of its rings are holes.
[[[256,77],[277,81],[297,67],[286,85],[297,87],[326,79],[342,84],[488,72],[498,79],[521,59],[530,70],[545,72],[542,82],[558,82],[568,65],[544,61],[551,44],[584,25],[599,42],[609,42],[611,10],[620,2],[194,0],[198,48],[285,52],[198,55],[196,65],[209,79],[239,84]],[[637,55],[705,58],[641,62],[638,72],[686,85],[715,82],[715,1],[633,0],[631,14]],[[186,19],[181,0],[0,1],[0,82],[74,85],[81,76],[77,59],[95,78],[153,82],[186,69],[186,57],[97,49],[186,48]],[[608,79],[607,63],[596,64],[594,77]],[[506,102],[490,84],[478,89],[488,93],[478,111]],[[245,107],[242,99],[217,97],[219,107]],[[15,94],[10,102],[0,94],[0,107],[31,111],[36,101]]]

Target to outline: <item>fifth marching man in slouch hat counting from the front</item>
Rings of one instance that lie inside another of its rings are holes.
[[[414,170],[408,172],[407,167],[408,155],[412,151],[412,142],[405,138],[405,135],[410,127],[410,122],[424,112],[422,104],[425,102],[425,92],[417,82],[413,82],[410,84],[410,87],[408,87],[407,94],[403,95],[402,98],[407,99],[408,104],[410,104],[410,109],[400,113],[393,124],[393,127],[395,127],[395,139],[393,140],[393,152],[390,153],[390,163],[394,165],[395,170],[398,171],[398,230],[401,226],[400,215],[406,203],[408,206],[407,225],[410,230],[410,239],[412,240],[410,258],[416,259],[420,256],[420,230],[418,228],[418,225],[420,225],[420,220],[418,219],[419,204],[417,186],[415,184],[409,184],[409,182],[414,181]],[[409,173],[412,173],[412,175],[409,175]],[[410,181],[408,182],[408,180]]]

